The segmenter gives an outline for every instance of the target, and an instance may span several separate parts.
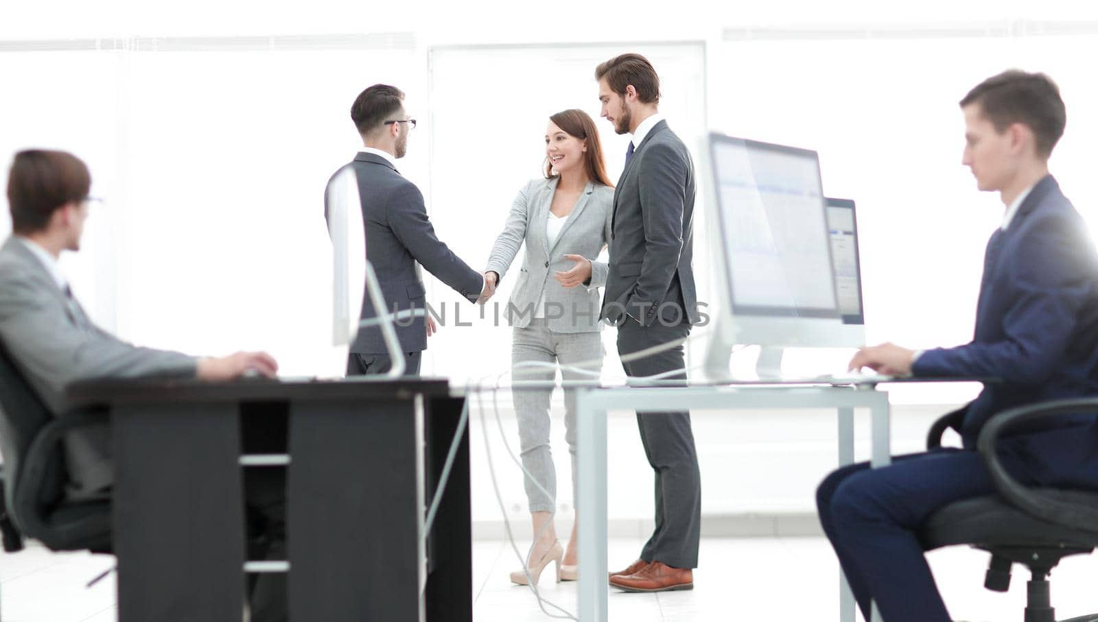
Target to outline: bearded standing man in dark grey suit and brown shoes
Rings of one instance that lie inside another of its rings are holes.
[[[683,342],[698,321],[694,253],[694,163],[659,114],[660,79],[647,58],[624,54],[595,70],[602,116],[632,134],[614,193],[609,276],[603,319],[618,327],[618,353],[679,342],[623,361],[629,376],[680,371]],[[656,531],[640,558],[610,575],[626,591],[692,589],[697,567],[702,482],[690,412],[637,414],[645,454],[656,472]]]

